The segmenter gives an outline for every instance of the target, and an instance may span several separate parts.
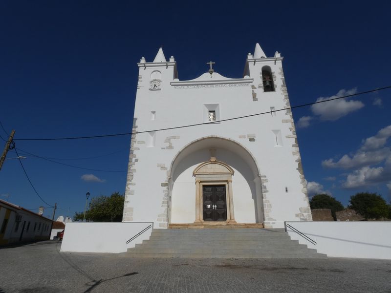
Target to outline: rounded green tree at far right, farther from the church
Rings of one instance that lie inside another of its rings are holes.
[[[359,192],[350,196],[350,209],[354,209],[366,220],[387,217],[390,208],[387,202],[377,193]]]

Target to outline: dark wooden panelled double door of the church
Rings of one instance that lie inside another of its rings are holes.
[[[227,201],[225,185],[203,185],[202,207],[204,221],[226,221]]]

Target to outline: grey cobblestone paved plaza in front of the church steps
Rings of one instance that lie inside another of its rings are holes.
[[[130,258],[60,252],[58,241],[0,249],[0,293],[391,293],[391,261]]]

